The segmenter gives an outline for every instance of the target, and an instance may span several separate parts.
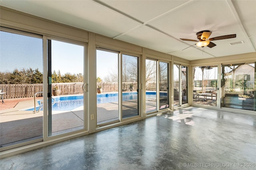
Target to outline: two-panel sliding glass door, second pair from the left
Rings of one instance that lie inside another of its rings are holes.
[[[97,49],[97,126],[140,115],[139,57]]]

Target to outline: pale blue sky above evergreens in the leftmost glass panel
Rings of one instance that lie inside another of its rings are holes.
[[[0,31],[0,71],[43,70],[42,39]]]

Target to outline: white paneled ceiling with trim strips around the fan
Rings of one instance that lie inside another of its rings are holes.
[[[256,52],[256,0],[0,0],[0,5],[188,60]],[[198,40],[203,30],[212,31],[210,38],[236,38],[213,41],[216,46],[204,47],[204,53],[196,42],[180,40]],[[244,43],[230,45],[238,41]]]

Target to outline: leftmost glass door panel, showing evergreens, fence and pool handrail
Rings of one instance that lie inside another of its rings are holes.
[[[34,96],[42,100],[43,41],[26,35],[0,31],[1,150],[43,137],[43,112],[34,112]]]

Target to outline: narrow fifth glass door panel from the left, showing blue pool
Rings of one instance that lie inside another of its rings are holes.
[[[154,60],[146,59],[146,113],[157,111],[156,63]]]

